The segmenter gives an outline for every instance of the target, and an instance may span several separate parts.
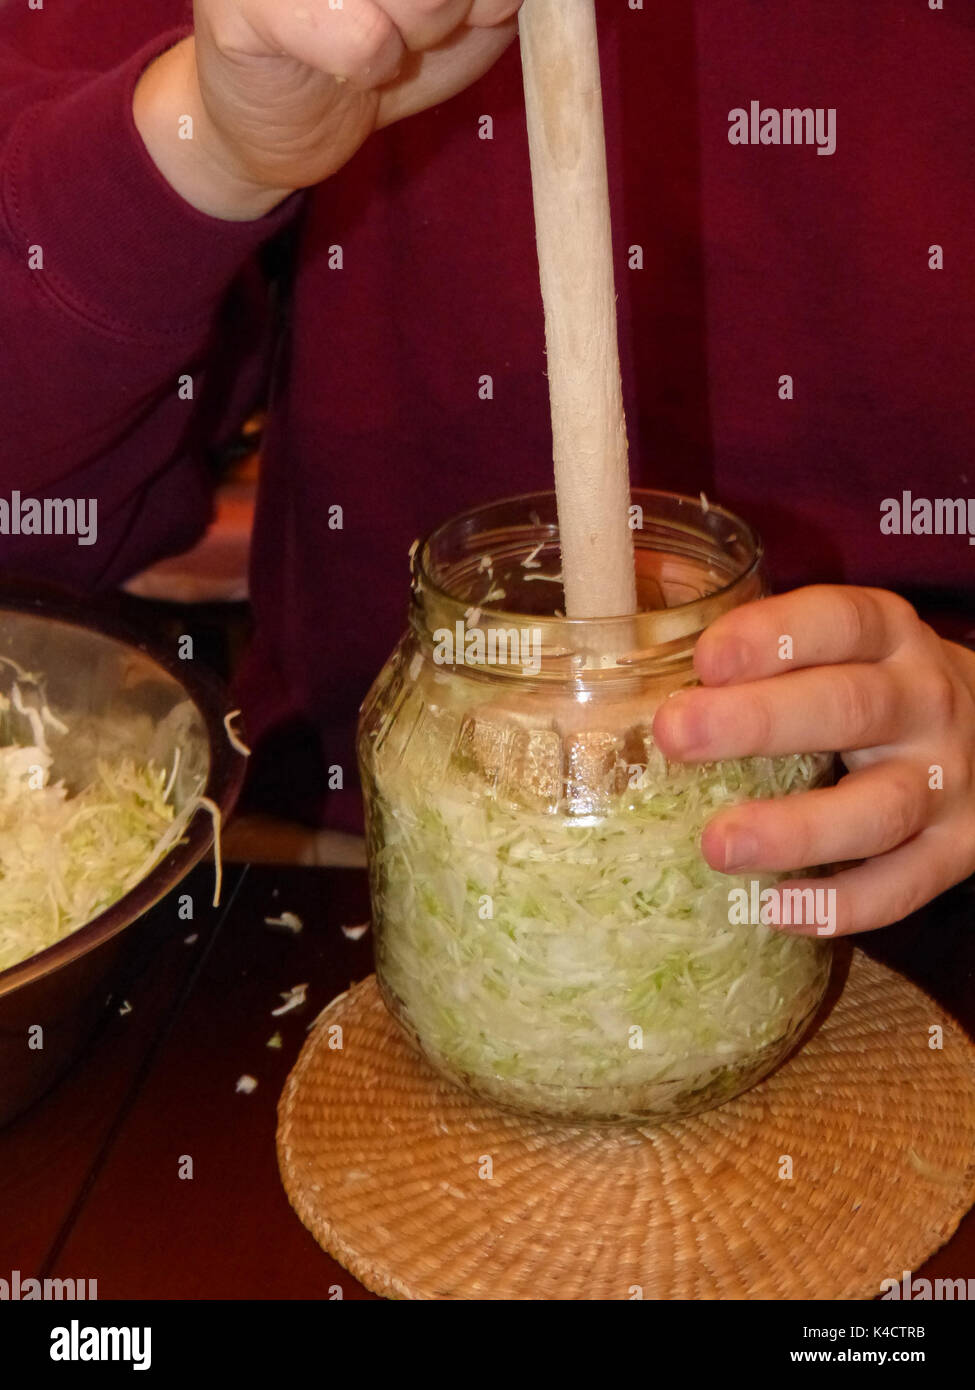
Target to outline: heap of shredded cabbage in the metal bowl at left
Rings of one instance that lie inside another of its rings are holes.
[[[221,817],[203,795],[206,762],[191,702],[163,719],[118,709],[110,721],[89,712],[64,723],[38,676],[4,655],[0,673],[10,681],[8,694],[0,691],[0,972],[125,897],[200,808],[214,823],[216,905]],[[49,730],[60,739],[56,752]],[[160,762],[170,755],[167,773]]]

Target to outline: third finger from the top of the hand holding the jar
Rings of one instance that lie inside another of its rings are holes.
[[[701,838],[712,869],[790,873],[867,859],[904,844],[930,820],[926,771],[908,762],[873,763],[836,787],[722,810]]]

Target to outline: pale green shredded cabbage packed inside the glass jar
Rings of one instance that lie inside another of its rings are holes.
[[[590,816],[374,749],[380,984],[433,1065],[497,1102],[691,1113],[765,1074],[822,997],[825,942],[729,923],[748,880],[712,870],[700,838],[723,806],[812,785],[823,760],[668,764],[645,744],[638,785]]]

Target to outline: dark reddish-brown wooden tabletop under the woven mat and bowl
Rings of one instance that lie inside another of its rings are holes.
[[[292,1213],[274,1148],[275,1105],[309,1024],[371,970],[360,870],[232,869],[213,910],[210,870],[138,929],[146,965],[86,1055],[0,1130],[0,1277],[97,1279],[100,1300],[371,1298]],[[299,934],[264,919],[293,912]],[[975,884],[860,942],[975,1030]],[[186,942],[188,935],[196,940]],[[307,1002],[281,1017],[281,995]],[[280,1033],[280,1049],[267,1047]],[[241,1076],[257,1080],[236,1091]],[[192,1159],[192,1177],[181,1176]],[[975,1212],[922,1270],[975,1277]]]

